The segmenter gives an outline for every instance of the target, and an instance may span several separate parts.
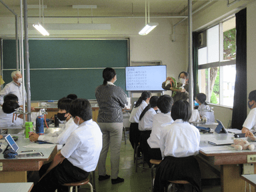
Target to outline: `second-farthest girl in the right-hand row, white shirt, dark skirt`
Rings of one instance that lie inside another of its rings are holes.
[[[153,117],[154,115],[157,115],[157,99],[157,96],[151,97],[149,100],[149,105],[145,107],[145,109],[139,116],[139,131],[141,131],[139,143],[141,151],[144,154],[144,160],[149,164],[149,167],[151,164],[149,163],[150,159],[147,157],[147,149],[149,148],[147,144],[147,139],[149,139],[153,127]]]

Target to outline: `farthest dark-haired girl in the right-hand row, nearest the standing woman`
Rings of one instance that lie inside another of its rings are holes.
[[[141,115],[142,111],[147,107],[149,104],[149,99],[151,97],[151,93],[149,91],[144,91],[141,93],[141,97],[139,97],[138,101],[133,107],[131,111],[131,115],[129,121],[131,122],[130,130],[129,130],[129,140],[131,142],[131,146],[135,149],[139,144],[140,132],[139,132],[139,116]]]

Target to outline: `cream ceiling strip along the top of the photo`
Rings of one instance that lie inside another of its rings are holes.
[[[19,0],[1,0],[17,15],[20,14]],[[41,0],[41,4],[42,4]],[[222,0],[225,1],[225,0]],[[151,0],[150,16],[186,16],[187,0]],[[209,1],[193,1],[193,11]],[[27,0],[27,5],[39,5],[39,0]],[[91,9],[73,9],[72,5],[97,5],[93,9],[93,17],[145,17],[145,0],[44,0],[43,5],[45,17],[90,17]],[[211,4],[210,4],[211,5]],[[148,4],[147,4],[148,6]],[[42,7],[42,6],[41,6]],[[41,13],[42,14],[42,13]],[[39,8],[28,9],[28,17],[39,17]],[[0,17],[13,16],[2,3],[0,3]]]

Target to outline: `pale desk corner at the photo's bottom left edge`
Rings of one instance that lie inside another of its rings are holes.
[[[0,183],[1,191],[8,192],[29,192],[31,191],[34,183]]]

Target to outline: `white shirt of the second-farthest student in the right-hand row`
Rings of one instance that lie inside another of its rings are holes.
[[[139,131],[149,131],[153,127],[153,117],[156,115],[155,109],[150,108],[139,121]]]

